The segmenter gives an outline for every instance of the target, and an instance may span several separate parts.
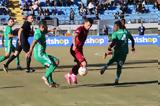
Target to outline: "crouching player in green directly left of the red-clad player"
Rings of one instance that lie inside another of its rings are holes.
[[[52,73],[55,71],[56,67],[59,64],[59,60],[51,55],[46,53],[46,37],[45,34],[48,32],[47,24],[44,21],[39,23],[39,28],[34,32],[34,40],[30,47],[27,56],[34,52],[34,58],[36,61],[40,62],[43,66],[46,67],[45,75],[42,77],[45,84],[49,87],[57,87],[52,79]]]

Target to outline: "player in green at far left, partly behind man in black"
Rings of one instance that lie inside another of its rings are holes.
[[[14,19],[9,18],[8,19],[8,25],[4,28],[4,34],[2,36],[2,45],[5,48],[5,56],[0,56],[0,62],[8,59],[11,55],[11,53],[15,52],[15,47],[12,44],[13,40],[13,34],[12,34],[12,26],[14,25]],[[20,63],[19,63],[19,56],[16,59],[17,69],[21,69]],[[3,69],[7,72],[7,70]]]

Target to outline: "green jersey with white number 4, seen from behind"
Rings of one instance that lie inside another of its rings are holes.
[[[112,34],[112,41],[115,40],[114,52],[118,54],[128,54],[128,39],[132,35],[126,29],[119,29]]]

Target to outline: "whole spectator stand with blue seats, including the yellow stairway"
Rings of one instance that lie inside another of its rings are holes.
[[[6,23],[9,15],[15,17],[17,22],[22,22],[23,18],[28,14],[33,14],[37,21],[41,19],[58,19],[59,24],[80,24],[85,17],[91,17],[97,20],[125,17],[128,23],[137,23],[140,20],[145,23],[154,23],[157,22],[159,18],[158,2],[145,3],[144,0],[139,0],[139,2],[134,4],[121,2],[123,0],[104,1],[105,0],[0,0],[0,23]],[[74,23],[71,23],[69,18],[71,8],[74,10]],[[12,14],[8,12],[9,10],[11,10]]]

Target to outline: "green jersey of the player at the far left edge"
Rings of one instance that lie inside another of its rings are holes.
[[[4,28],[4,46],[8,47],[12,45],[12,38],[9,38],[9,34],[12,34],[12,27],[11,26],[6,26]]]

